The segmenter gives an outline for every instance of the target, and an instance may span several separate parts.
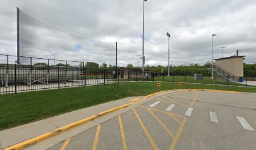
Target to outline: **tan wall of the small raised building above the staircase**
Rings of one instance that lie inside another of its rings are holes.
[[[215,61],[216,66],[228,71],[236,77],[243,77],[243,58],[228,58]]]

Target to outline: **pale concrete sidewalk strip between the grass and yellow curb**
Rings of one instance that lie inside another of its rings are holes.
[[[99,104],[90,108],[72,111],[70,113],[61,114],[52,118],[43,119],[41,121],[36,121],[34,123],[24,124],[23,126],[18,126],[16,128],[1,131],[0,148],[3,149],[8,146],[12,146],[27,139],[34,138],[35,136],[39,136],[67,124],[73,123],[75,121],[88,118],[102,111],[107,111],[108,109],[131,103],[131,101],[129,100],[134,98],[142,99],[143,97],[129,97],[119,99],[117,101],[110,101],[108,103]]]

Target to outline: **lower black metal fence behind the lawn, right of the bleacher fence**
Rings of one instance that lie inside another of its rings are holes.
[[[211,70],[207,70],[211,74]],[[207,72],[206,71],[206,72]],[[120,73],[119,73],[120,74]],[[121,73],[122,74],[122,73]],[[196,74],[196,73],[195,73]],[[211,76],[202,76],[202,78],[196,78],[195,76],[191,76],[191,74],[184,73],[176,73],[170,74],[168,76],[164,73],[154,73],[151,71],[127,71],[127,76],[123,76],[120,78],[119,82],[140,82],[140,81],[151,81],[151,82],[171,82],[171,83],[193,83],[193,84],[218,84],[218,85],[226,85],[226,86],[245,86],[245,87],[256,87],[256,82],[252,83],[252,81],[256,81],[254,77],[243,78],[243,82],[238,82],[233,79],[232,76],[225,76],[226,78],[216,79],[211,78]],[[219,77],[218,77],[219,78]]]

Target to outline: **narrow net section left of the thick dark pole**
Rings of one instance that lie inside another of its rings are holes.
[[[16,54],[16,34],[16,12],[0,12],[0,54]],[[0,56],[0,63],[6,63],[6,56]]]

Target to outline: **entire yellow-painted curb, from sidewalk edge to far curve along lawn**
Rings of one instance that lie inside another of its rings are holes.
[[[157,93],[149,94],[149,95],[145,96],[143,99],[151,98],[152,96],[156,96],[157,94],[171,92],[171,91],[211,91],[211,92],[221,92],[221,93],[241,93],[241,92],[237,92],[237,91],[221,91],[221,90],[216,90],[216,89],[171,89],[171,90],[160,91],[160,92],[157,92]],[[76,121],[75,123],[68,124],[66,126],[55,129],[55,130],[50,131],[50,132],[45,133],[45,134],[41,134],[40,136],[36,136],[35,138],[31,138],[31,139],[28,139],[28,140],[23,141],[21,143],[14,144],[13,146],[9,146],[7,148],[4,148],[3,150],[14,150],[14,149],[17,150],[17,149],[25,148],[26,146],[29,146],[29,145],[36,144],[40,141],[43,141],[45,139],[50,138],[51,136],[55,136],[56,134],[63,133],[64,131],[67,131],[68,129],[72,129],[72,128],[75,128],[76,126],[79,126],[81,124],[88,123],[89,121],[93,121],[93,119],[99,118],[100,116],[104,116],[105,114],[112,113],[112,112],[117,111],[119,109],[127,108],[128,106],[130,106],[132,104],[135,104],[140,100],[142,100],[142,99],[134,99],[134,102],[132,102],[132,103],[124,104],[122,106],[118,106],[116,108],[112,108],[112,109],[109,109],[107,111],[101,112],[97,115],[90,116],[90,117],[82,119],[80,121]]]

